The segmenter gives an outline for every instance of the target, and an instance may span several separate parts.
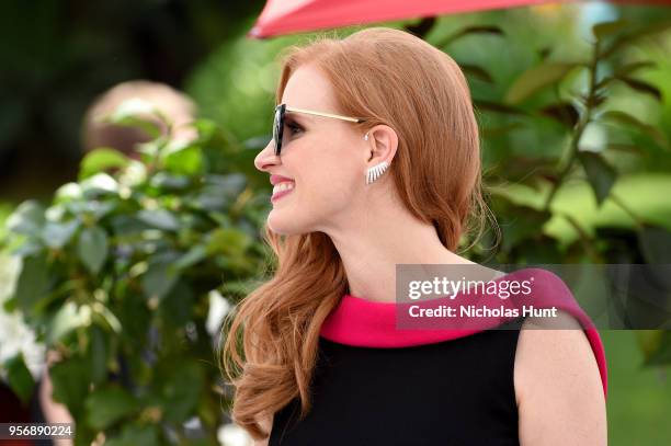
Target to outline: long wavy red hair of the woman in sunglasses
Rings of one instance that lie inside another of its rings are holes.
[[[384,27],[343,39],[321,37],[285,53],[277,100],[305,64],[331,82],[337,113],[365,117],[363,129],[386,124],[396,130],[398,150],[388,174],[405,206],[433,224],[445,248],[456,251],[474,229],[475,239],[481,236],[491,213],[481,193],[477,118],[467,81],[448,55]],[[300,398],[302,416],[310,410],[319,330],[348,293],[342,261],[327,235],[263,229],[275,271],[227,318],[221,356],[236,389],[231,416],[257,439],[270,434],[259,421],[292,399]]]

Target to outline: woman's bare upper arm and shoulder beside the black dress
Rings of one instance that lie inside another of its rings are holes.
[[[605,445],[605,398],[599,366],[580,322],[527,318],[514,363],[521,445]]]

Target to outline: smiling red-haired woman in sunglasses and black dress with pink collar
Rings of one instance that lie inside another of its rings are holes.
[[[255,159],[275,185],[264,229],[277,267],[229,328],[242,335],[224,352],[234,420],[259,445],[605,444],[594,332],[412,343],[396,332],[396,265],[471,264],[456,250],[486,216],[477,122],[454,60],[367,28],[293,48],[277,100],[274,138]],[[545,323],[510,323],[522,321]]]

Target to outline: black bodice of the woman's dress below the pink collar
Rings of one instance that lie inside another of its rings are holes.
[[[275,413],[270,446],[519,445],[513,384],[523,318],[508,330],[408,347],[319,340],[312,409]]]

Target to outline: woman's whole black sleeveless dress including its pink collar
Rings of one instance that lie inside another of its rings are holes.
[[[542,268],[504,277],[535,279],[522,301],[581,323],[607,396],[601,338],[562,279]],[[269,445],[518,445],[514,362],[524,313],[481,319],[470,331],[399,330],[409,308],[344,295],[320,330],[310,412],[299,420],[298,399],[277,411]]]

